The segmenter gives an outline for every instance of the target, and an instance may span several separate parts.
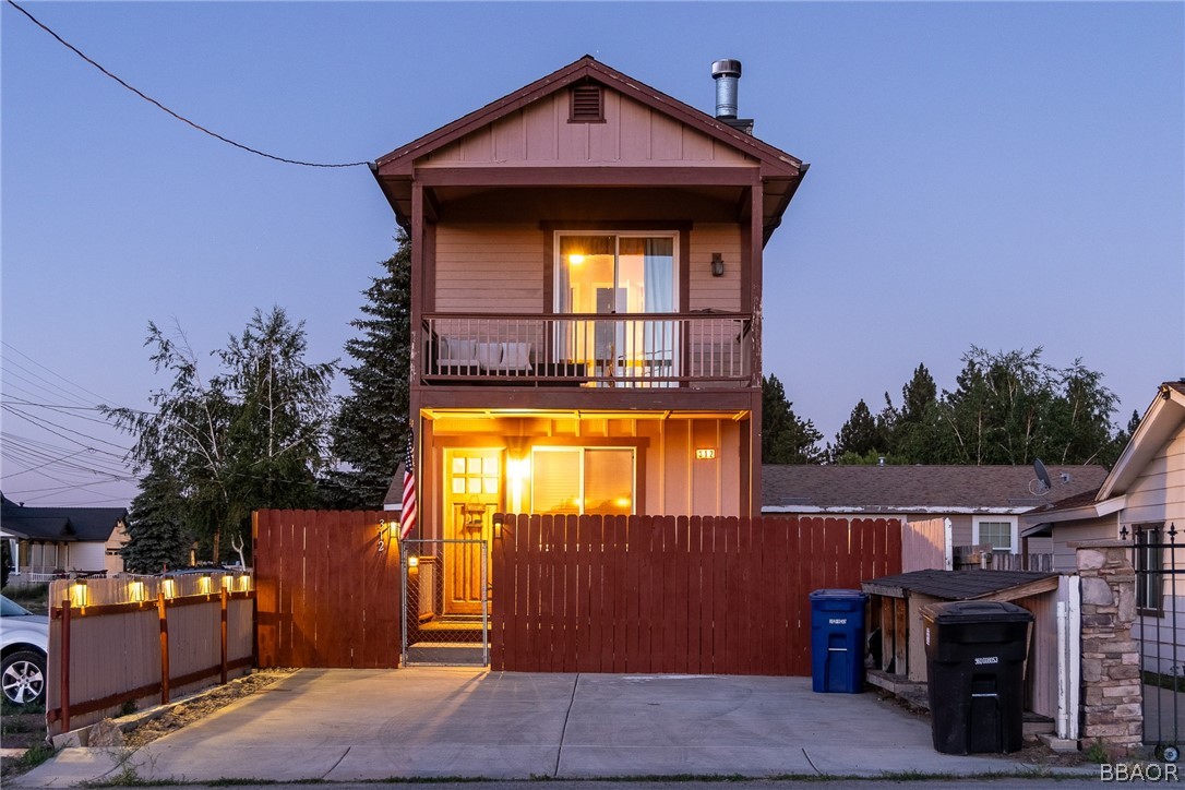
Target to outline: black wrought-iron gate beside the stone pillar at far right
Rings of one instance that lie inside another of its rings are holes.
[[[1127,537],[1127,528],[1123,528]],[[1135,570],[1135,627],[1144,681],[1144,743],[1157,756],[1177,762],[1185,736],[1185,646],[1178,629],[1177,526],[1133,525],[1132,567]]]

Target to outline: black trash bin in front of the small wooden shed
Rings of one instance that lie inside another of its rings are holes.
[[[922,619],[934,749],[1019,751],[1033,616],[1016,604],[961,600],[922,606]]]

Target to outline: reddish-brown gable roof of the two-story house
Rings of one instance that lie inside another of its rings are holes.
[[[629,77],[592,56],[585,54],[578,60],[534,81],[533,83],[507,94],[485,107],[430,131],[412,142],[379,156],[372,165],[376,180],[379,182],[387,201],[396,212],[399,224],[410,224],[408,210],[409,195],[406,185],[411,181],[416,160],[448,146],[482,127],[489,126],[512,113],[521,110],[533,102],[551,96],[577,83],[595,82],[615,90],[646,107],[685,123],[697,131],[752,158],[761,167],[763,181],[763,218],[764,239],[781,223],[782,213],[789,205],[802,176],[809,165],[784,150],[762,142],[713,116],[667,96]]]

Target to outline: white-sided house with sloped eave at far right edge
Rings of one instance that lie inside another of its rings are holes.
[[[1055,570],[1075,569],[1075,544],[1123,539],[1133,546],[1138,570],[1136,636],[1145,643],[1147,669],[1185,674],[1185,640],[1176,622],[1185,615],[1185,381],[1166,381],[1098,489],[1021,519],[1021,534],[1050,540]],[[1161,644],[1162,648],[1154,648]]]

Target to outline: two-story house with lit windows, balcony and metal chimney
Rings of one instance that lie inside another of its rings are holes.
[[[760,510],[762,249],[807,165],[712,72],[716,117],[585,56],[377,161],[411,239],[416,537]]]

